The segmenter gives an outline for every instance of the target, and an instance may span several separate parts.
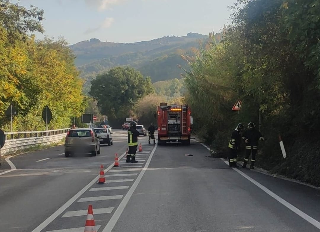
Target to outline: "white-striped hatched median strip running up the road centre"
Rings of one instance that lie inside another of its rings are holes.
[[[127,136],[126,131],[114,132],[114,142],[124,140],[126,138],[124,135]],[[150,157],[151,152],[156,149],[155,145],[148,144],[148,136],[140,136],[138,143],[141,143],[142,146],[142,151],[137,151],[136,154],[138,163],[126,163],[125,153],[122,154],[119,158],[120,167],[107,168],[108,170],[105,171],[107,185],[93,183],[51,223],[43,229],[40,228],[32,232],[83,232],[89,204],[93,206],[96,231],[101,232],[108,224],[117,207],[124,200],[124,196],[133,187],[148,158],[152,158],[152,156]],[[98,170],[99,167],[97,167],[97,173],[99,172]]]

